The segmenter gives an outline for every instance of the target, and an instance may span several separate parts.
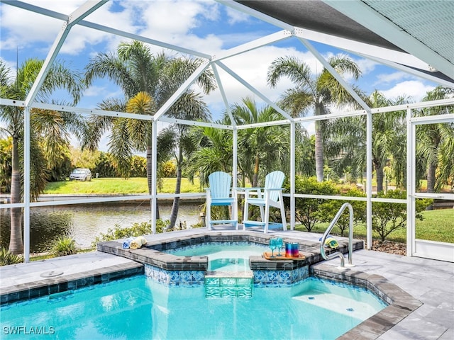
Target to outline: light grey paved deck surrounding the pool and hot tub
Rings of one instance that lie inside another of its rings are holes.
[[[206,229],[193,229],[148,237],[158,240],[166,239],[170,234],[175,237],[201,231],[210,233]],[[217,231],[218,229],[213,232]],[[231,232],[238,231],[231,230]],[[320,237],[320,234],[295,231],[270,231],[270,235],[314,242],[318,242]],[[312,267],[315,269],[326,266],[337,267],[339,264],[340,259],[336,258]],[[358,337],[350,339],[454,339],[454,263],[361,249],[353,252],[353,264],[355,264],[355,271],[387,278],[391,283],[421,301],[423,305],[377,338],[358,334]],[[74,280],[74,278],[83,280],[87,271],[97,273],[99,277],[110,277],[111,273],[118,271],[138,273],[140,267],[140,263],[100,251],[3,266],[0,267],[0,293],[4,294],[17,289],[18,286],[37,285],[43,280],[54,278],[60,281]],[[55,274],[60,275],[52,277]],[[115,278],[115,275],[112,278]],[[82,283],[87,282],[83,280]]]

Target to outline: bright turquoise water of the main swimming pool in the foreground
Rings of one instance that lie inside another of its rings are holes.
[[[248,298],[204,294],[203,285],[134,276],[1,307],[1,338],[328,340],[385,307],[365,290],[314,278]]]

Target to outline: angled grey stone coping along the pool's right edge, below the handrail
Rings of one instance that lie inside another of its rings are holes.
[[[339,268],[325,263],[311,266],[310,273],[317,278],[367,288],[367,290],[388,304],[377,314],[338,337],[341,340],[377,339],[423,305],[421,301],[416,300],[405,290],[377,274],[355,271],[353,268]]]

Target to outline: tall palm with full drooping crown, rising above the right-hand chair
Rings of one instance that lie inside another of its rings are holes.
[[[344,55],[329,58],[328,63],[339,74],[351,74],[356,80],[361,71],[353,60]],[[308,64],[295,57],[279,57],[272,62],[267,74],[267,83],[273,88],[282,77],[289,77],[295,84],[293,89],[285,91],[282,104],[294,117],[306,115],[309,108],[314,115],[330,113],[332,105],[343,106],[355,103],[347,90],[339,84],[336,78],[323,68],[320,74],[313,74]],[[323,123],[315,123],[315,160],[317,181],[323,181]]]

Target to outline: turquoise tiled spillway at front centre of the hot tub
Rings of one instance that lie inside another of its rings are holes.
[[[253,273],[208,271],[205,275],[205,297],[252,297]]]

